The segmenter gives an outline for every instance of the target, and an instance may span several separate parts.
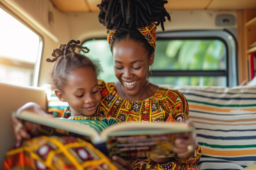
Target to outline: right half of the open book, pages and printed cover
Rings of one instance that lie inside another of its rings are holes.
[[[102,132],[109,156],[126,160],[173,157],[175,135],[188,135],[193,128],[180,123],[124,123],[113,125]]]

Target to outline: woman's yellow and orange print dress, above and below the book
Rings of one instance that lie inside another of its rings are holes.
[[[115,89],[114,83],[99,80],[101,103],[98,115],[116,117],[121,121],[141,122],[185,122],[189,119],[189,106],[186,98],[179,91],[159,87],[155,94],[147,99],[128,101],[122,99]],[[158,164],[150,159],[132,161],[134,170],[199,170],[196,165],[201,157],[199,146],[196,155],[186,159],[173,158],[172,162]]]

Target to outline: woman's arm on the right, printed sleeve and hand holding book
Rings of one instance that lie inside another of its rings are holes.
[[[180,100],[172,100],[178,99]],[[167,110],[170,110],[170,114],[167,118],[167,121],[170,122],[186,122],[187,126],[194,127],[193,123],[189,121],[189,106],[186,98],[179,91],[170,91],[167,95],[167,99],[170,104],[166,106],[170,106]],[[175,152],[175,159],[180,163],[195,163],[200,157],[200,146],[196,140],[195,128],[192,132],[177,134],[173,148],[171,149]],[[153,159],[156,163],[167,163],[170,159]]]

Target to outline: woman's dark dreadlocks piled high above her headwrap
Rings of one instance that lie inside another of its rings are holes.
[[[99,7],[99,22],[106,26],[108,30],[117,30],[113,35],[112,48],[116,42],[124,40],[129,34],[129,38],[144,44],[149,55],[154,52],[152,46],[137,30],[138,27],[145,27],[150,22],[156,25],[161,24],[164,31],[164,22],[171,21],[169,13],[164,8],[167,0],[101,0]]]

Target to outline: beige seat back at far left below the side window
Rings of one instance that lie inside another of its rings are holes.
[[[27,102],[35,102],[46,110],[45,91],[39,88],[0,83],[0,168],[2,168],[5,153],[15,144],[10,121],[11,113]]]

